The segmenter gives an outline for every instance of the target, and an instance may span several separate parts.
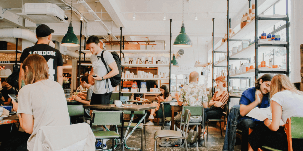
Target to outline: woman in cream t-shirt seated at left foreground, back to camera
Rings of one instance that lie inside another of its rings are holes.
[[[70,123],[64,91],[58,82],[48,79],[48,64],[43,56],[28,55],[22,69],[25,86],[18,93],[18,103],[13,101],[13,109],[27,134],[13,135],[1,143],[0,150],[32,151],[41,127]]]

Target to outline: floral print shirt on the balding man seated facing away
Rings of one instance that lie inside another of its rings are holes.
[[[195,82],[190,82],[189,85],[182,87],[179,101],[186,106],[201,106],[202,102],[207,102],[208,97],[206,89],[197,85]],[[191,118],[198,118],[199,116],[191,116]]]

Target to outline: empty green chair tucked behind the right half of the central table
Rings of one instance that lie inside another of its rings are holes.
[[[131,111],[123,111],[124,114],[131,114]],[[144,115],[145,111],[135,111],[134,114]],[[132,122],[130,128],[134,128],[138,123]],[[124,122],[124,128],[127,128],[128,122]],[[122,125],[117,125],[117,127],[122,127]],[[145,118],[144,123],[140,123],[137,128],[141,129],[141,149],[143,150],[143,127],[144,127],[144,146],[146,146],[146,135],[145,135]]]

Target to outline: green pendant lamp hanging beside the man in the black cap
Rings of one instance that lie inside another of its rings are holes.
[[[73,9],[73,1],[72,1],[72,9]],[[73,31],[72,11],[71,11],[71,22],[69,23],[68,31],[65,34],[65,36],[63,37],[60,45],[65,46],[65,47],[79,47],[80,46],[79,40]]]

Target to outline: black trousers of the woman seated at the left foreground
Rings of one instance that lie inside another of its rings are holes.
[[[31,134],[26,132],[18,132],[8,136],[7,139],[2,141],[0,151],[27,151],[26,143]],[[26,149],[26,150],[25,150]]]

